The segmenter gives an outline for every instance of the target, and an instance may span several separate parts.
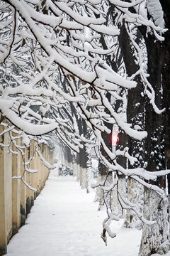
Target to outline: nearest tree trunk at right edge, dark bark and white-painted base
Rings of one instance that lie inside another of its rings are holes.
[[[166,27],[169,28],[170,3],[161,1],[164,9]],[[168,8],[169,7],[169,8]],[[166,108],[163,114],[156,114],[149,100],[146,104],[146,129],[148,136],[145,142],[145,161],[148,171],[165,169],[169,161],[169,31],[165,33],[165,41],[156,41],[154,36],[145,37],[148,55],[149,82],[155,92],[155,102],[159,109]],[[165,139],[165,140],[164,140]],[[166,156],[166,159],[165,159]],[[155,182],[164,188],[164,177]],[[152,205],[152,207],[151,207]],[[140,255],[149,256],[152,253],[164,254],[169,250],[166,227],[166,203],[154,191],[145,188],[145,218],[155,220],[152,227],[144,225]]]

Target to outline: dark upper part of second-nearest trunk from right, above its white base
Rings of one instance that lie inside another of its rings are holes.
[[[138,40],[140,39],[140,37],[141,34],[137,33]],[[120,26],[120,36],[118,37],[118,41],[120,44],[121,53],[123,55],[126,73],[128,74],[128,76],[134,75],[140,67],[135,64],[134,49],[132,48],[132,43],[130,41],[130,37],[128,36],[128,32],[126,31],[124,23],[122,26]],[[131,124],[132,128],[141,130],[144,129],[145,123],[145,98],[142,97],[143,83],[140,75],[136,75],[134,80],[135,82],[137,82],[137,86],[128,91],[127,122]],[[129,167],[144,165],[143,145],[143,142],[138,142],[137,140],[128,137],[129,153],[132,156],[135,156],[138,160],[137,164],[134,166],[130,166],[129,163]]]

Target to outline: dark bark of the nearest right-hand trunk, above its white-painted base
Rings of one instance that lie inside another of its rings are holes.
[[[157,41],[152,35],[145,38],[148,55],[149,82],[155,92],[155,103],[161,110],[164,108],[163,87],[162,87],[162,70],[164,67],[164,59],[162,51],[162,43]],[[165,169],[164,156],[164,113],[157,114],[152,105],[147,100],[146,104],[146,121],[147,139],[145,142],[145,161],[148,171],[159,171]],[[159,178],[158,186],[164,187],[164,180]]]

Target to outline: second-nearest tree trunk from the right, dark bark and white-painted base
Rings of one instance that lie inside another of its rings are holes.
[[[142,38],[142,35],[138,31],[137,40],[140,41],[140,38]],[[135,63],[134,48],[132,47],[132,43],[124,23],[122,26],[120,26],[120,36],[118,37],[118,40],[125,63],[126,73],[128,76],[134,75],[140,67],[138,67]],[[143,83],[140,75],[136,75],[134,80],[137,82],[137,86],[128,91],[127,122],[131,124],[132,128],[142,130],[145,128],[145,98],[142,97]],[[133,166],[128,163],[128,168],[144,166],[144,142],[139,142],[124,134],[124,146],[125,142],[128,142],[130,155],[137,158],[137,162],[133,164]],[[135,193],[135,191],[137,191],[137,193]],[[128,178],[128,200],[135,203],[142,211],[143,188],[130,177]],[[125,216],[125,227],[141,228],[141,226],[142,225],[136,214],[133,213],[132,210],[127,210]]]

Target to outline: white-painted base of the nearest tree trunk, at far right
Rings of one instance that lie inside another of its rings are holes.
[[[144,217],[154,220],[156,224],[143,225],[139,256],[150,256],[154,253],[164,255],[169,250],[166,203],[155,191],[146,187],[144,201]]]

